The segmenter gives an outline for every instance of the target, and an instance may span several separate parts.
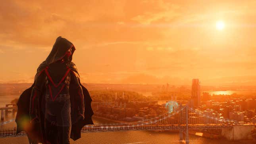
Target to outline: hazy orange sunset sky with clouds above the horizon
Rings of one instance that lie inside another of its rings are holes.
[[[255,10],[250,0],[4,0],[0,83],[33,82],[63,36],[83,83],[256,85]]]

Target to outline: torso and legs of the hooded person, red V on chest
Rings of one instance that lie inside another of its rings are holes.
[[[70,69],[60,61],[51,63],[46,72],[45,130],[46,138],[57,143],[69,142],[71,132],[71,104],[69,96]],[[55,134],[51,131],[56,129]]]

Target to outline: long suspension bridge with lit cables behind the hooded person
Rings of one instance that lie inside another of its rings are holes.
[[[16,127],[4,128],[4,125],[12,121],[14,119],[0,123],[0,137],[26,135],[25,132],[16,134]],[[162,113],[151,119],[131,123],[86,125],[81,132],[177,130],[179,131],[179,140],[185,140],[186,144],[189,144],[189,130],[232,129],[231,122],[231,120],[213,116],[211,113],[202,113],[187,105],[182,105],[173,108],[173,111]]]

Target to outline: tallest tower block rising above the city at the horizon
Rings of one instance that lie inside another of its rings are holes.
[[[200,106],[200,82],[199,79],[192,80],[191,99],[194,106]]]

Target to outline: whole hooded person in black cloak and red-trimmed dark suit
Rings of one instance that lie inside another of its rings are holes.
[[[68,144],[69,138],[81,138],[83,126],[93,124],[92,99],[71,62],[74,51],[59,36],[37,68],[33,85],[19,97],[16,134],[25,131],[29,143]]]

